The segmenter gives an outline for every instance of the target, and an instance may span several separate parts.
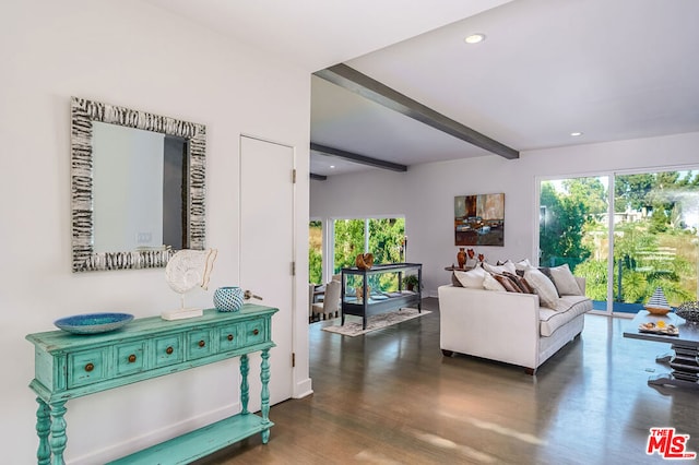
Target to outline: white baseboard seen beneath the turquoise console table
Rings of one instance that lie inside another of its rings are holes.
[[[197,417],[167,425],[158,430],[150,431],[137,438],[116,443],[109,448],[92,451],[78,457],[71,457],[70,463],[73,465],[104,464],[129,455],[134,451],[140,451],[141,449],[175,438],[185,432],[193,431],[203,426],[211,425],[233,415],[234,413],[240,412],[240,403],[236,402],[235,404],[226,405]]]

